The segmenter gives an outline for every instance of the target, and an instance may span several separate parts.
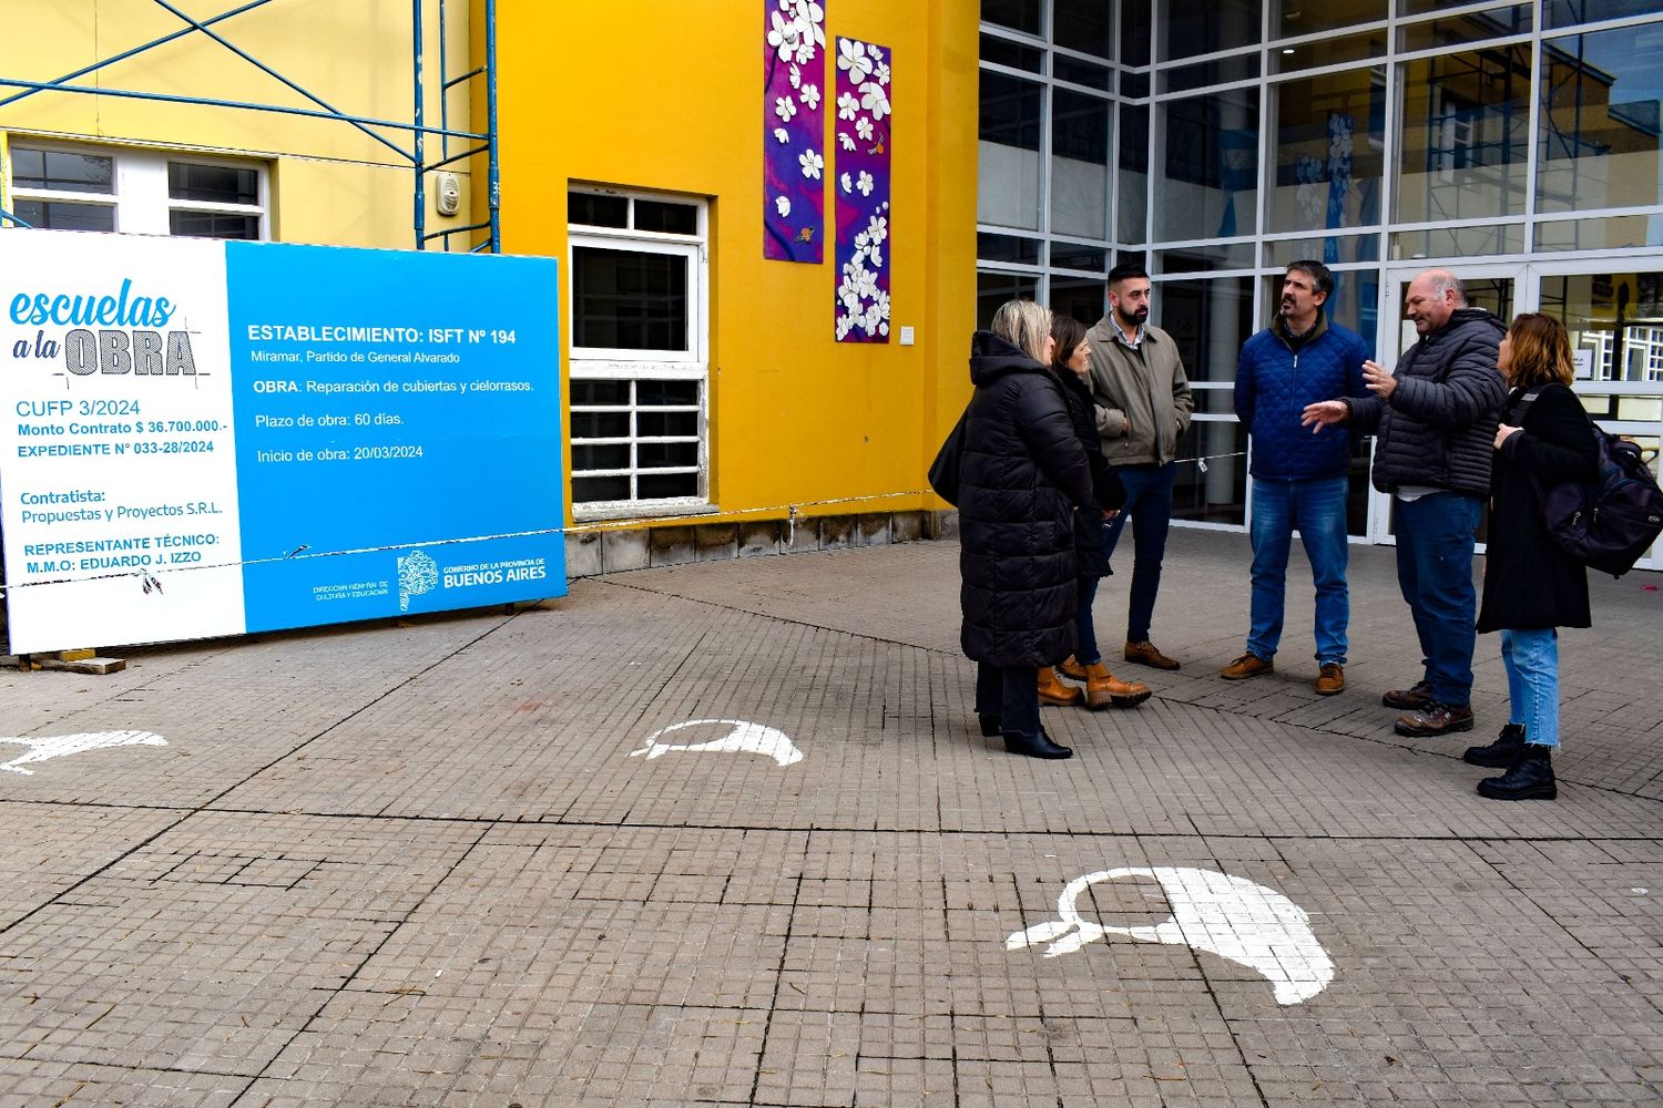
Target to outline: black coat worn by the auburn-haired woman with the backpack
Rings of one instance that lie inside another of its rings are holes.
[[[1525,389],[1507,397],[1507,422],[1518,424]],[[1495,460],[1490,542],[1485,547],[1478,630],[1528,631],[1588,626],[1588,571],[1558,548],[1542,520],[1537,488],[1593,480],[1600,447],[1588,414],[1565,385],[1545,385]]]

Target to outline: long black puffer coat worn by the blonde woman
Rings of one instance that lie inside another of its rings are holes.
[[[1056,377],[991,331],[970,342],[976,395],[960,463],[960,641],[973,661],[1049,666],[1074,650],[1074,507],[1091,465]]]

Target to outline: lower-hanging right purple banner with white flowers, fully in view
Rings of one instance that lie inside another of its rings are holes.
[[[890,341],[890,51],[836,40],[836,341]]]

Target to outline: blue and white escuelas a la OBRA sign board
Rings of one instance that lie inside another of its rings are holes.
[[[565,595],[552,259],[7,246],[15,653]]]

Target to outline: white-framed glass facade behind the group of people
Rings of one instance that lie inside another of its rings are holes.
[[[1152,321],[1197,390],[1176,518],[1246,525],[1229,390],[1289,262],[1334,271],[1330,317],[1382,360],[1405,344],[1417,269],[1482,274],[1475,302],[1508,312],[1550,311],[1535,269],[1595,287],[1615,251],[1646,289],[1663,271],[1655,0],[983,0],[981,15],[978,317],[1029,296],[1096,321],[1109,266],[1149,269]],[[1578,287],[1562,301],[1582,319]],[[1568,322],[1593,351],[1591,324]],[[1605,379],[1631,384],[1611,412],[1663,419],[1663,379],[1636,369],[1663,359],[1663,317],[1625,326]],[[1352,532],[1389,535],[1367,460],[1364,444]]]

